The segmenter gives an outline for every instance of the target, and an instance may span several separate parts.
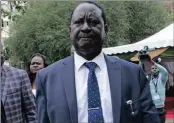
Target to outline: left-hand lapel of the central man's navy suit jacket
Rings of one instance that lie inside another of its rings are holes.
[[[77,98],[75,87],[75,73],[74,73],[74,57],[70,56],[63,61],[62,78],[64,83],[65,94],[70,110],[72,123],[78,122],[77,112]]]

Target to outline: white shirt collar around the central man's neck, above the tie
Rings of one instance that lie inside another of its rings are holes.
[[[79,70],[85,62],[95,62],[100,69],[102,69],[104,67],[104,64],[106,64],[103,52],[101,52],[91,61],[86,60],[85,58],[74,52],[74,61],[75,68],[77,70]]]

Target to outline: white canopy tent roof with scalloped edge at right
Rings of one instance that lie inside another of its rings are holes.
[[[142,50],[144,46],[148,46],[149,49],[174,47],[174,23],[142,41],[117,47],[103,48],[103,52],[109,55],[134,52]]]

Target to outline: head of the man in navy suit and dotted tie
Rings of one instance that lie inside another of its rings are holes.
[[[102,11],[93,4],[82,3],[74,10],[70,38],[80,56],[92,60],[100,54],[105,37]]]

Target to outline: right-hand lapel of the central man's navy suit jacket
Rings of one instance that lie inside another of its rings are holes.
[[[120,123],[121,110],[121,65],[115,58],[105,55],[111,90],[113,121]]]

